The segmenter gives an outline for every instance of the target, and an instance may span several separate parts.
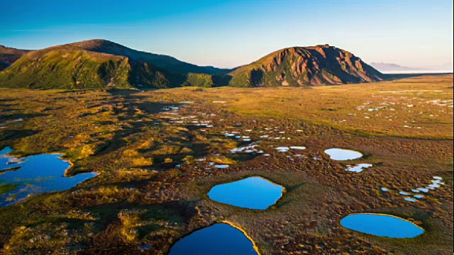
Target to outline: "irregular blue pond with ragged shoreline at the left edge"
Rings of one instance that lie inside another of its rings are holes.
[[[28,196],[50,191],[65,191],[78,183],[96,176],[96,173],[65,177],[71,165],[61,154],[40,154],[18,159],[6,154],[10,147],[0,151],[0,207],[19,203]]]

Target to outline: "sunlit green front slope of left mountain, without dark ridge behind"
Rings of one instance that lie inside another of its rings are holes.
[[[167,88],[181,82],[182,75],[127,57],[58,48],[31,52],[0,73],[1,86],[31,89]]]

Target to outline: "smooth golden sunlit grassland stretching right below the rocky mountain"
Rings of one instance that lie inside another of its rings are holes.
[[[453,139],[452,75],[343,86],[148,92],[156,93],[214,101],[242,115],[301,119],[364,135]]]

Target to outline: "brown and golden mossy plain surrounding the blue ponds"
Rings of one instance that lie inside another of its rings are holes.
[[[0,89],[0,123],[6,123],[0,148],[11,146],[19,156],[60,152],[74,164],[67,175],[99,173],[68,191],[0,208],[1,252],[166,254],[194,229],[228,221],[261,254],[452,254],[453,108],[441,102],[452,105],[452,91],[452,76],[314,89]],[[388,108],[357,109],[384,102]],[[170,106],[179,110],[162,110]],[[232,154],[249,142],[224,131],[260,140],[271,156]],[[307,149],[275,149],[289,145]],[[323,153],[329,147],[365,157],[335,162]],[[214,169],[210,161],[230,167]],[[353,163],[374,166],[345,171]],[[265,211],[206,196],[212,186],[246,176],[265,177],[287,192]],[[424,199],[411,203],[399,195],[430,184],[432,176],[445,185]],[[426,232],[414,239],[353,232],[339,224],[351,212],[391,213]],[[141,251],[138,244],[152,248]]]

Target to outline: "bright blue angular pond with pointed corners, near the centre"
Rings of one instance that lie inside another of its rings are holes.
[[[211,200],[240,208],[265,210],[282,196],[284,188],[262,177],[249,177],[211,188]]]

